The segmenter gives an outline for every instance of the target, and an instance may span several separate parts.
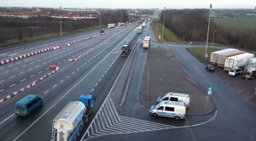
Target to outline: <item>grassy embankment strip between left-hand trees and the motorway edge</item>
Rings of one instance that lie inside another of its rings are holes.
[[[62,36],[72,35],[72,34],[86,32],[86,31],[95,31],[95,30],[99,30],[99,29],[100,29],[99,26],[91,26],[89,28],[76,30],[76,31],[72,31],[72,32],[64,32],[63,31]],[[54,38],[54,37],[60,37],[60,33],[44,34],[44,35],[34,36],[34,37],[24,37],[22,40],[19,40],[18,38],[11,39],[11,40],[5,41],[3,43],[0,43],[0,48],[9,47],[9,46],[20,44],[20,43],[37,42],[40,40]]]

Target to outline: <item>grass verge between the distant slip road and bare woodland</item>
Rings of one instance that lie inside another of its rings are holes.
[[[155,25],[156,24],[156,25]],[[159,42],[176,42],[176,43],[183,43],[176,35],[175,33],[173,33],[172,31],[170,31],[169,29],[167,29],[165,27],[164,29],[164,39],[162,39],[162,29],[163,29],[163,25],[161,23],[156,23],[153,22],[151,24],[151,27],[154,31],[154,35],[157,41]],[[161,38],[159,38],[159,36]]]

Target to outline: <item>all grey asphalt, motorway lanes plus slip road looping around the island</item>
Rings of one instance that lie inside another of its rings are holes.
[[[125,26],[69,47],[65,46],[67,42],[95,36],[98,31],[1,51],[2,60],[41,48],[62,47],[0,65],[3,72],[0,77],[0,90],[3,89],[1,97],[49,73],[49,65],[60,67],[60,71],[0,105],[0,138],[7,141],[49,140],[51,121],[61,109],[69,101],[76,100],[80,93],[92,93],[96,96],[95,112],[82,130],[80,140],[256,140],[255,109],[218,76],[205,73],[204,65],[191,56],[185,50],[187,46],[183,45],[152,42],[151,47],[172,51],[202,91],[207,91],[207,87],[211,86],[213,91],[210,99],[216,109],[210,114],[187,116],[186,120],[181,121],[149,116],[148,107],[139,101],[143,68],[149,51],[141,48],[141,42],[147,35],[153,37],[148,27],[143,29],[140,36],[136,34],[134,26]],[[131,54],[127,58],[120,58],[121,45],[132,38],[134,47]],[[68,61],[81,54],[85,55],[79,60]],[[127,95],[122,101],[126,86]],[[28,93],[41,96],[44,106],[32,116],[15,116],[15,102]]]

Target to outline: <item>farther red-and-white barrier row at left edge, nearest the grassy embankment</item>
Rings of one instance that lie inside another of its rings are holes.
[[[38,51],[35,51],[35,52],[32,52],[32,53],[22,54],[20,56],[17,56],[17,57],[11,58],[11,59],[0,60],[0,65],[5,65],[5,64],[8,64],[8,63],[13,62],[15,60],[25,59],[26,57],[30,57],[30,56],[33,56],[33,55],[36,55],[36,54],[41,54],[41,53],[47,52],[49,50],[55,50],[55,49],[61,49],[61,46],[44,48],[44,49],[41,49],[41,50],[38,50]]]

